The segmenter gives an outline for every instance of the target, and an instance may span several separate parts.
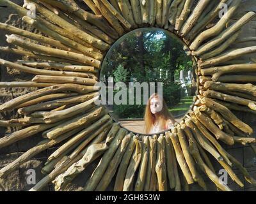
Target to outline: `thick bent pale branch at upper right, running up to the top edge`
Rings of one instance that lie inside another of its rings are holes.
[[[235,0],[232,1],[232,3],[229,6],[228,11],[223,15],[223,17],[220,18],[220,20],[217,22],[216,25],[211,27],[210,29],[207,29],[206,31],[200,33],[196,39],[191,43],[189,48],[191,50],[197,50],[197,48],[208,38],[211,38],[212,36],[217,36],[218,34],[221,33],[225,25],[227,24],[228,20],[232,17],[234,12],[237,10],[238,6],[240,5],[241,0]],[[220,5],[220,4],[219,4]],[[219,6],[218,5],[218,6]],[[219,8],[212,13],[212,18],[211,20],[216,16],[216,12],[219,12]],[[214,17],[213,17],[214,16]]]

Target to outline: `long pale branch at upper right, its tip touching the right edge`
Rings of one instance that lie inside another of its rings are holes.
[[[217,47],[218,45],[223,43],[225,40],[230,38],[230,36],[232,36],[234,33],[239,31],[239,29],[241,29],[241,27],[243,27],[244,24],[246,24],[253,17],[255,17],[255,15],[256,13],[254,13],[253,11],[246,13],[246,15],[244,15],[242,18],[237,20],[235,24],[228,27],[219,36],[216,36],[216,38],[212,39],[211,41],[208,41],[207,43],[199,47],[197,50],[195,50],[195,52],[192,52],[192,54],[196,56],[200,56],[205,52],[211,50],[212,48]],[[189,48],[191,48],[191,46]]]

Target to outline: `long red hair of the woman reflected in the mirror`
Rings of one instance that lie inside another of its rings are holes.
[[[156,121],[156,116],[150,110],[150,103],[151,103],[151,100],[153,98],[161,99],[161,101],[163,103],[163,107],[162,107],[161,112],[159,112],[157,114],[158,115],[158,117],[157,117],[158,121]],[[150,130],[153,127],[155,122],[159,122],[159,124],[161,126],[161,129],[166,130],[168,120],[171,120],[173,124],[176,122],[172,113],[170,113],[168,111],[168,108],[167,108],[167,105],[166,105],[164,99],[161,96],[159,96],[159,94],[157,94],[157,93],[152,94],[150,96],[150,98],[148,99],[148,103],[147,103],[147,106],[145,108],[145,114],[144,114],[145,133],[146,134],[150,133]]]

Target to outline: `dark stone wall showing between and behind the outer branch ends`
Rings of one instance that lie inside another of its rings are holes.
[[[21,0],[15,0],[13,1],[15,3],[19,3],[20,5],[23,3]],[[256,11],[256,4],[255,0],[247,0],[243,1],[243,4],[239,7],[239,10],[236,12],[236,16],[234,17],[234,20],[237,20],[237,18],[240,18],[246,11]],[[26,25],[23,25],[20,21],[20,18],[17,17],[17,15],[10,15],[13,13],[12,10],[8,8],[0,8],[0,22],[12,22],[12,24],[15,24],[17,27],[24,27]],[[5,41],[5,35],[6,33],[3,31],[0,31],[0,46],[8,46],[8,44]],[[256,35],[256,19],[253,19],[251,22],[246,24],[243,28],[243,36],[255,36]],[[241,36],[241,37],[243,37]],[[246,43],[247,46],[255,45],[256,43]],[[236,45],[236,47],[240,47],[241,45]],[[247,57],[255,57],[255,55],[250,55]],[[7,59],[10,61],[15,61],[17,59],[20,59],[20,56],[14,55],[14,54],[6,54],[6,53],[0,53],[0,58]],[[30,80],[33,76],[29,75],[27,73],[20,73],[19,71],[15,71],[13,69],[6,69],[3,66],[1,66],[0,69],[0,77],[1,81],[4,82],[10,82],[13,80]],[[24,88],[15,88],[15,89],[1,89],[1,97],[0,97],[0,103],[4,103],[4,101],[8,101],[12,98],[15,98],[17,96],[20,96],[22,94],[25,94],[26,92],[31,91],[31,89],[24,89]],[[249,124],[255,131],[253,136],[256,136],[256,117],[255,115],[251,113],[238,113],[235,112],[237,117],[242,119],[244,122]],[[17,119],[19,117],[14,112],[10,113],[1,113],[0,119],[1,120],[9,120],[9,119]],[[10,128],[0,128],[0,137],[4,135],[8,135],[12,133],[12,131],[17,131],[17,129],[10,129]],[[6,164],[12,162],[14,159],[17,159],[22,153],[26,152],[26,150],[30,149],[31,147],[35,146],[38,142],[42,140],[40,135],[29,137],[25,140],[22,140],[20,142],[14,143],[13,145],[10,145],[4,149],[0,149],[0,168],[3,168],[6,166]],[[61,145],[61,144],[60,144]],[[44,166],[44,163],[47,159],[47,156],[49,156],[55,148],[45,150],[44,152],[41,152],[36,157],[31,159],[31,161],[28,161],[25,164],[22,164],[20,168],[11,175],[8,176],[7,179],[5,179],[2,184],[0,182],[0,191],[28,191],[31,187],[33,187],[33,184],[29,185],[27,182],[29,169],[33,169],[36,171],[36,182],[41,180],[44,175],[40,172],[40,169],[42,166]],[[255,154],[253,154],[252,149],[248,146],[242,147],[241,145],[235,145],[234,147],[227,147],[227,151],[230,152],[233,156],[235,156],[243,165],[248,169],[250,174],[256,179],[256,157]],[[99,160],[98,160],[99,161]],[[84,171],[81,175],[79,175],[72,184],[70,184],[67,187],[67,190],[74,190],[74,191],[81,191],[82,187],[84,186],[86,180],[90,177],[92,174],[93,169],[97,166],[97,162],[93,163],[91,167]],[[221,169],[218,163],[214,162],[215,166],[218,166],[218,168]],[[235,169],[235,172],[239,172],[237,169]],[[245,182],[243,179],[243,176],[241,173],[238,173],[238,177],[244,182],[244,187],[241,188],[234,184],[232,182],[232,179],[228,178],[228,185],[232,187],[232,189],[235,189],[236,191],[255,191],[256,188],[252,187],[252,185],[248,184],[248,182]],[[212,186],[209,179],[207,180],[207,186],[210,190],[216,190],[214,186]],[[53,187],[49,184],[49,186],[45,187],[45,191],[53,191]],[[191,186],[191,190],[199,191],[198,187]]]

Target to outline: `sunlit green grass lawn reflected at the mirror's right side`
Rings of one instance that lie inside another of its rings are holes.
[[[168,110],[173,114],[173,116],[181,115],[188,112],[190,106],[193,104],[193,96],[186,96],[180,99],[180,103],[178,103],[173,108],[169,108]]]

